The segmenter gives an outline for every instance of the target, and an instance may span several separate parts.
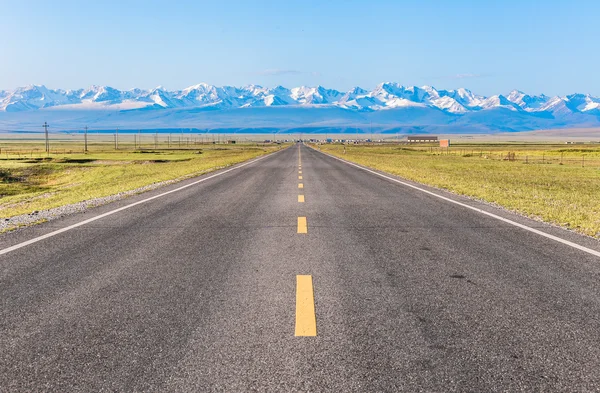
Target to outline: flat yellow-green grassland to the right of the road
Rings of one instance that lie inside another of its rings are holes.
[[[598,145],[465,144],[446,150],[325,144],[319,148],[600,238]]]

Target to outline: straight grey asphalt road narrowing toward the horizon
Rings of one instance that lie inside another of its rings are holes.
[[[600,390],[600,258],[302,145],[0,255],[0,302],[3,392]]]

